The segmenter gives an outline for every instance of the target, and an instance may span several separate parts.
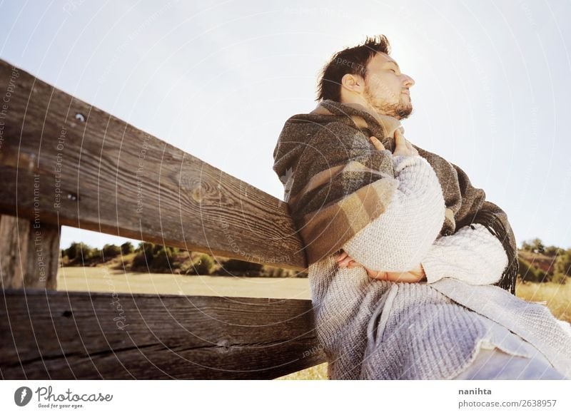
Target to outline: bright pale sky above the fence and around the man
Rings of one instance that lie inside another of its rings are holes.
[[[405,136],[463,168],[518,244],[571,247],[570,19],[565,0],[13,0],[0,58],[282,199],[283,123],[315,107],[332,53],[385,34],[416,81]]]

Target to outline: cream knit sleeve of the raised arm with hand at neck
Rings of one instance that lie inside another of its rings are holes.
[[[343,250],[364,267],[408,271],[418,266],[444,222],[442,188],[420,155],[393,156],[398,188],[385,212],[357,232]]]

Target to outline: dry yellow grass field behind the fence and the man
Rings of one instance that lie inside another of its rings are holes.
[[[107,267],[60,268],[58,290],[310,299],[306,278],[126,274]],[[545,302],[557,319],[571,322],[571,282],[567,282],[566,285],[552,282],[542,284],[518,282],[515,294],[527,301]],[[278,378],[278,380],[322,379],[327,379],[327,363]]]

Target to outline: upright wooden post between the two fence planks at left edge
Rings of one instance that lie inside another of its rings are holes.
[[[61,227],[0,216],[0,286],[56,290]]]

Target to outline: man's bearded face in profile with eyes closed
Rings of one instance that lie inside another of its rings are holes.
[[[363,98],[378,113],[401,120],[413,112],[409,89],[414,84],[393,58],[377,53],[367,65]]]

